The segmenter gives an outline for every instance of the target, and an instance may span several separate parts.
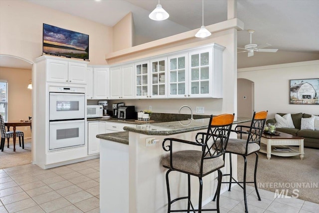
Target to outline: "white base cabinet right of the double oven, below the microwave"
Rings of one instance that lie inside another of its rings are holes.
[[[88,122],[88,155],[100,153],[100,139],[96,135],[106,133],[105,124],[103,121]]]

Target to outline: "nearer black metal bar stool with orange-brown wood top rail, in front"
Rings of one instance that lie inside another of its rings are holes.
[[[218,116],[210,116],[207,132],[197,133],[196,142],[186,141],[176,138],[166,138],[162,143],[165,151],[169,152],[161,160],[166,172],[166,187],[168,196],[168,210],[170,212],[187,212],[190,207],[193,212],[198,211],[217,211],[219,213],[219,193],[222,179],[222,172],[220,169],[224,167],[225,148],[230,135],[231,126],[234,120],[234,114],[222,114]],[[173,144],[184,143],[199,147],[198,150],[182,150],[173,152]],[[201,151],[200,151],[201,150]],[[202,210],[202,177],[218,171],[218,185],[217,185],[217,208],[210,210]],[[171,171],[177,171],[188,176],[188,196],[176,198],[171,201],[169,191],[168,175]],[[199,179],[199,203],[198,210],[195,210],[190,201],[190,176],[196,176]],[[187,210],[171,210],[171,204],[181,199],[187,199]]]

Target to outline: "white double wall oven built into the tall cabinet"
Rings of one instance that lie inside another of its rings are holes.
[[[49,88],[49,151],[85,145],[85,88]]]

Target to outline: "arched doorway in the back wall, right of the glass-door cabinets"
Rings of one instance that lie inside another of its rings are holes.
[[[237,79],[237,115],[252,117],[255,110],[254,82],[244,78]]]

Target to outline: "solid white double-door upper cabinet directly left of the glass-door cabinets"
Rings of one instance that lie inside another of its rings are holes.
[[[110,99],[134,98],[134,64],[110,68]]]

